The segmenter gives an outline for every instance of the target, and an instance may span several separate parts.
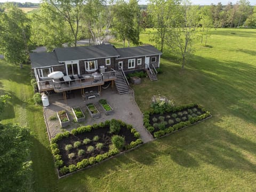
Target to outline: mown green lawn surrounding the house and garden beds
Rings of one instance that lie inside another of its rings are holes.
[[[142,34],[145,43],[147,34]],[[118,45],[118,43],[116,43]],[[0,93],[12,99],[4,123],[31,127],[35,191],[255,191],[256,30],[212,30],[185,70],[163,55],[158,81],[133,86],[146,110],[154,94],[197,102],[212,118],[91,169],[57,179],[41,107],[32,105],[29,66],[0,60]]]

